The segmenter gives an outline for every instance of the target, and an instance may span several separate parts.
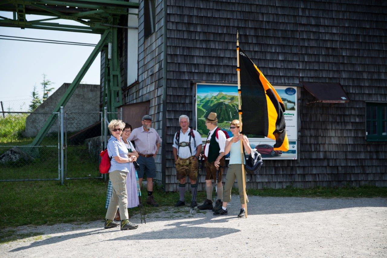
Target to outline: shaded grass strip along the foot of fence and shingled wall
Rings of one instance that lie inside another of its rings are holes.
[[[102,220],[106,214],[104,208],[107,182],[98,179],[68,180],[63,186],[55,181],[36,182],[1,182],[2,195],[0,199],[0,228],[21,225],[43,225],[56,223],[84,223]],[[168,211],[179,198],[178,193],[164,193],[159,186],[154,187],[154,198],[159,207],[146,205],[147,191],[142,187],[142,203],[146,214]],[[237,189],[232,190],[238,194]],[[247,194],[252,196],[280,196],[280,197],[387,197],[387,187],[316,187],[312,189],[249,189]],[[206,198],[205,191],[198,192],[197,201],[200,204]],[[191,194],[185,194],[188,207]],[[129,215],[139,214],[139,208],[128,209]],[[171,217],[176,217],[181,211],[173,211]],[[201,213],[202,211],[197,210]],[[186,212],[187,213],[187,212]],[[14,231],[2,232],[2,238],[12,238]]]

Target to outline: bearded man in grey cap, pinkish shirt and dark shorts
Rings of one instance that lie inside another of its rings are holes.
[[[153,129],[152,117],[150,115],[144,115],[142,117],[142,126],[135,128],[130,134],[128,140],[134,141],[136,150],[139,153],[137,163],[140,165],[139,171],[139,183],[141,186],[144,174],[146,175],[148,198],[147,204],[154,207],[159,206],[153,198],[153,179],[156,177],[156,163],[154,159],[161,145],[161,138],[159,134]]]

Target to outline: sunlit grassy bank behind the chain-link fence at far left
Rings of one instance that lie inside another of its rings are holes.
[[[27,114],[9,114],[0,118],[0,142],[16,140],[26,129]]]

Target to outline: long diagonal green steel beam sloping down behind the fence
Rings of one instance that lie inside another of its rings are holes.
[[[54,108],[53,112],[59,112],[60,107],[65,106],[67,101],[70,99],[72,94],[74,93],[75,89],[79,85],[80,81],[82,80],[83,76],[85,76],[87,70],[91,66],[91,64],[94,62],[95,58],[97,57],[98,53],[101,52],[101,49],[106,44],[106,40],[108,39],[108,36],[110,34],[110,30],[106,30],[102,36],[101,40],[99,40],[98,44],[95,46],[93,51],[91,52],[89,58],[87,58],[85,64],[82,66],[80,71],[78,72],[77,76],[75,76],[74,81],[68,86],[68,89],[66,90],[65,94],[62,96],[62,98],[58,101],[57,106]],[[51,126],[55,122],[56,115],[52,114],[50,115],[50,118],[47,119],[44,126],[39,130],[38,134],[36,135],[34,141],[30,144],[31,146],[37,146],[41,143],[43,138],[46,136],[47,132],[50,130]]]

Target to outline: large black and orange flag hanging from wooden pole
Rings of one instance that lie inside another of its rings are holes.
[[[277,91],[250,58],[239,48],[243,134],[276,140],[274,150],[288,151],[285,107]]]

